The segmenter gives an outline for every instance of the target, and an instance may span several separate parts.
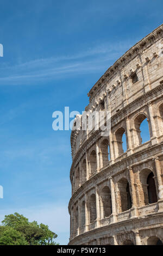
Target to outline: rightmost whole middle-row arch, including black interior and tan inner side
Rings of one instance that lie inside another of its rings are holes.
[[[156,203],[158,198],[156,194],[156,186],[154,174],[151,169],[143,169],[140,172],[140,182],[142,187],[141,202],[143,205]]]

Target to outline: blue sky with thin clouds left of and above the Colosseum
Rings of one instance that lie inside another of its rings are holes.
[[[69,238],[70,131],[52,113],[82,112],[106,69],[162,23],[162,0],[1,1],[0,220],[15,211]]]

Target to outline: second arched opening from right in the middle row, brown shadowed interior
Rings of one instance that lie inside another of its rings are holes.
[[[132,207],[129,183],[127,179],[122,178],[118,181],[118,212],[127,211]]]

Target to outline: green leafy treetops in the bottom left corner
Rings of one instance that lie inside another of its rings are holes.
[[[48,225],[29,222],[23,215],[5,215],[0,226],[0,245],[57,245],[57,237]]]

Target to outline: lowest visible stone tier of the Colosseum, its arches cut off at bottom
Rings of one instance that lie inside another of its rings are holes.
[[[68,245],[163,245],[163,213],[95,228],[74,237]]]

